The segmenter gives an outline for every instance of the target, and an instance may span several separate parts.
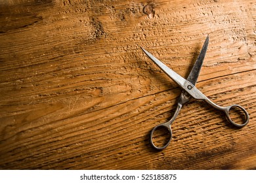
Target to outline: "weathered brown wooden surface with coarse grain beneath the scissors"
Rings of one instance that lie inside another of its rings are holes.
[[[1,1],[0,168],[256,169],[255,24],[254,0]],[[207,35],[197,87],[250,122],[191,101],[156,152],[181,90],[140,46],[186,77]]]

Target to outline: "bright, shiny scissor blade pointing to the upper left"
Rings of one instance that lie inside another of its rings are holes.
[[[154,56],[152,56],[152,54],[150,54],[147,50],[145,50],[144,48],[140,47],[143,52],[148,56],[148,58],[152,59],[152,61],[154,61],[154,63],[156,63],[156,65],[158,65],[158,67],[160,67],[160,69],[165,72],[166,75],[168,75],[174,82],[176,82],[181,88],[183,88],[184,90],[186,90],[185,85],[186,82],[188,82],[186,79],[182,78],[182,76],[180,76],[179,74],[175,73],[175,71],[173,71],[172,69],[170,69],[169,67],[167,67],[167,65],[165,65],[164,63],[162,63],[159,59],[155,58]]]

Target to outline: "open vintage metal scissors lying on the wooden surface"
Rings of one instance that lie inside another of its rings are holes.
[[[156,65],[158,65],[158,67],[160,67],[160,69],[167,76],[169,76],[174,82],[176,82],[178,84],[179,87],[182,88],[182,92],[179,97],[177,108],[176,108],[175,113],[173,114],[173,117],[171,118],[171,120],[169,120],[168,122],[165,122],[163,124],[156,125],[156,127],[154,127],[150,133],[150,144],[154,148],[156,148],[156,150],[163,150],[164,148],[166,148],[169,145],[169,143],[171,142],[172,136],[173,136],[173,133],[171,131],[171,124],[173,124],[174,120],[177,118],[179,111],[182,108],[182,105],[184,105],[185,103],[188,103],[188,101],[190,101],[191,98],[203,100],[206,103],[208,103],[209,105],[211,105],[211,107],[216,108],[217,110],[223,111],[228,122],[230,122],[230,124],[234,125],[235,127],[240,127],[240,128],[244,127],[249,122],[249,114],[245,110],[244,107],[241,107],[240,105],[230,105],[228,107],[220,107],[219,105],[213,103],[205,95],[203,95],[203,93],[200,92],[200,90],[198,90],[198,88],[196,88],[195,85],[198,80],[198,76],[200,74],[200,70],[201,70],[201,67],[203,64],[203,59],[205,58],[208,44],[209,44],[209,35],[207,35],[207,38],[205,39],[202,50],[200,51],[200,54],[199,54],[198,58],[196,59],[196,62],[194,63],[194,66],[193,66],[192,70],[190,71],[190,74],[188,75],[187,79],[182,78],[182,76],[175,73],[175,71],[173,71],[172,69],[167,67],[159,59],[155,58],[154,56],[152,56],[152,54],[150,54],[148,51],[146,51],[144,48],[142,48],[142,50],[148,56],[148,58],[152,59],[152,61],[154,61],[154,63],[156,63]],[[244,116],[240,116],[240,117],[242,117],[242,121],[243,121],[242,124],[238,124],[230,118],[230,109],[231,108],[239,109],[240,112],[244,113]],[[159,146],[156,146],[153,142],[153,134],[154,134],[154,131],[156,131],[156,129],[159,129],[160,127],[164,127],[165,129],[168,130],[169,141],[167,141],[165,143],[165,145],[159,147]]]

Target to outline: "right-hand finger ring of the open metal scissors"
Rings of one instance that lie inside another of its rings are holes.
[[[231,118],[230,118],[230,110],[231,108],[240,108],[242,110],[242,112],[244,112],[244,116],[245,116],[245,120],[243,121],[242,124],[237,124],[236,122],[234,122]],[[226,118],[228,120],[228,122],[230,122],[232,125],[235,125],[236,127],[244,127],[245,125],[248,124],[249,122],[249,114],[248,112],[245,110],[244,107],[240,106],[240,105],[230,105],[228,107],[224,107],[223,111],[226,114]]]

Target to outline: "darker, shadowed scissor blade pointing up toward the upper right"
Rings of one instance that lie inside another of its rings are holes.
[[[209,35],[207,35],[205,42],[203,43],[202,50],[200,51],[200,54],[198,56],[198,59],[196,59],[196,62],[187,78],[187,80],[191,82],[193,85],[196,85],[196,81],[198,80],[198,76],[200,74],[200,70],[203,65],[203,59],[205,58],[208,44],[209,44]]]

